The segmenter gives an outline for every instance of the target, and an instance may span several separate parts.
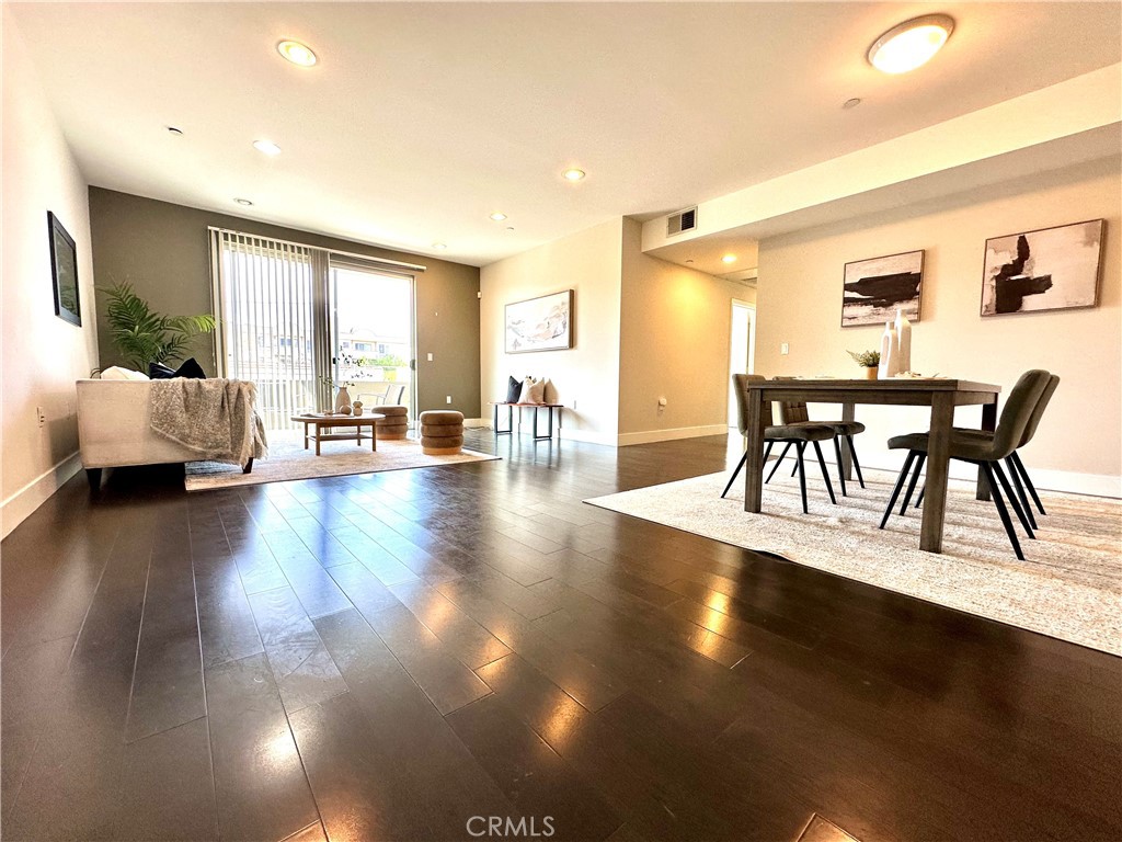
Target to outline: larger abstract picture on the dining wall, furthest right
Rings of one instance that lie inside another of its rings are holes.
[[[1095,306],[1103,225],[1094,219],[986,240],[982,315]]]

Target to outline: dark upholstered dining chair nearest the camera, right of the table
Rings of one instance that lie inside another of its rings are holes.
[[[1022,561],[1024,560],[1024,553],[1021,551],[1021,544],[1017,540],[1017,532],[1009,516],[1009,510],[1002,500],[1001,489],[997,485],[999,482],[1001,483],[1001,487],[1004,488],[1009,502],[1012,504],[1013,511],[1017,513],[1018,520],[1021,521],[1026,533],[1029,538],[1036,538],[1036,536],[1024,512],[1021,510],[1021,504],[1013,493],[1009,479],[1005,477],[1005,472],[1001,469],[1001,460],[1020,446],[1024,437],[1024,431],[1028,428],[1029,419],[1032,417],[1041,395],[1048,387],[1051,376],[1048,372],[1040,368],[1033,368],[1021,375],[1020,379],[1017,381],[1017,385],[1009,393],[1005,406],[1001,411],[1001,419],[997,421],[997,429],[993,431],[993,436],[950,437],[950,458],[973,463],[982,468],[982,473],[990,486],[990,493],[993,496],[994,506],[997,509],[997,514],[1001,518],[1002,525],[1005,528],[1005,533],[1009,536],[1009,541],[1013,546],[1013,552]],[[889,522],[889,515],[892,514],[892,509],[896,504],[900,489],[903,487],[904,481],[908,479],[908,475],[911,474],[911,481],[908,485],[908,493],[904,504],[901,507],[901,513],[908,507],[908,501],[911,498],[912,492],[916,491],[920,468],[927,459],[928,445],[929,436],[926,432],[913,432],[889,439],[889,449],[907,449],[908,456],[904,459],[900,475],[896,477],[896,484],[892,489],[892,496],[889,498],[889,505],[884,510],[884,516],[881,518],[881,529],[884,529],[884,525]],[[912,473],[913,463],[916,463],[914,473]]]

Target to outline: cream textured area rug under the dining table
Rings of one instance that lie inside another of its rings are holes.
[[[951,481],[944,552],[936,555],[919,549],[914,507],[900,516],[898,502],[877,529],[895,477],[866,470],[867,487],[849,483],[848,497],[835,478],[834,506],[817,466],[808,465],[803,514],[798,481],[780,478],[787,473],[764,486],[760,514],[744,511],[743,474],[720,500],[727,473],[585,502],[1122,655],[1122,502],[1041,494],[1048,514],[1037,515],[1037,540],[1019,533],[1028,560],[1018,561],[994,504]]]

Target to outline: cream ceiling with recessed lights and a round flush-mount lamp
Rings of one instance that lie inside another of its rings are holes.
[[[472,265],[724,195],[1122,53],[1116,2],[9,8],[91,184]],[[888,76],[866,63],[882,31],[935,10],[956,30],[930,64]],[[282,38],[319,64],[283,61]],[[282,154],[254,149],[260,138]],[[588,177],[565,182],[569,166]]]

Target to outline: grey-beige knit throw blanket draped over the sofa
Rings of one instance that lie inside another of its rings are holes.
[[[267,454],[265,425],[254,411],[257,388],[247,381],[173,377],[153,381],[151,429],[199,454],[199,459],[245,465]]]

